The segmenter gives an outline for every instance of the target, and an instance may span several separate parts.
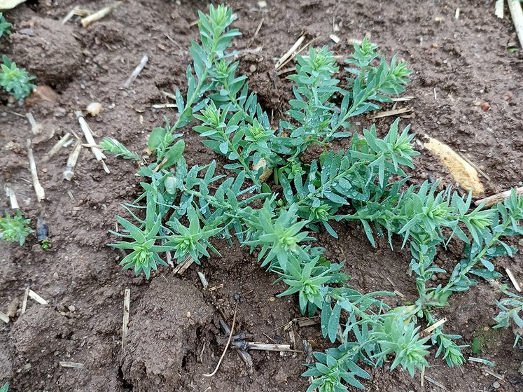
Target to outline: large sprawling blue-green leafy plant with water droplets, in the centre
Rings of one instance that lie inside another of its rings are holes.
[[[363,137],[347,132],[349,118],[391,102],[386,94],[403,92],[411,73],[396,58],[387,63],[381,57],[373,66],[379,52],[366,39],[354,45],[347,60],[356,68],[347,69],[354,78],[346,88],[333,78],[338,67],[327,48],[310,48],[308,57],[297,56],[291,120],[281,121],[275,132],[256,94],[249,92],[246,76],[236,75],[238,63],[227,60],[225,50],[239,35],[228,28],[234,19],[225,6],[210,6],[209,15],[200,13],[202,45],[191,43],[194,61],[186,71],[186,94],[176,90],[176,122],[171,127],[166,118],[165,127],[151,132],[148,148],[156,162],[138,173],[144,177],[143,195],[124,206],[137,225],[117,217],[124,232],[114,234],[127,241],[111,246],[131,251],[121,264],[134,267],[136,274],[143,270],[148,278],[151,269],[166,264],[158,253],[175,252],[178,262],[191,257],[200,263],[209,251],[218,254],[212,237],[227,239],[231,246],[235,238],[249,246],[260,265],[288,286],[280,296],[297,293],[302,314],[320,312],[323,336],[340,342],[326,353],[314,353],[318,362],[304,373],[317,377],[309,391],[347,391],[342,381],[362,388],[356,377],[369,376],[360,360],[381,366],[394,356],[391,368],[401,365],[413,375],[415,368],[428,365],[428,342],[438,345],[437,356],[442,353],[449,365],[463,363],[462,346],[454,342],[459,336],[447,335],[439,326],[431,337],[422,337],[416,323],[421,318],[429,325],[438,321],[434,308],[446,306],[454,291],[476,283],[469,274],[498,277],[489,259],[515,251],[500,237],[521,232],[517,221],[523,198],[513,193],[493,209],[470,211],[470,195],[436,193],[437,184],[429,183],[407,188],[403,168],[412,168],[412,157],[418,155],[409,127],[399,130],[396,121],[383,139],[374,126]],[[188,167],[179,139],[183,134],[175,132],[193,118],[200,120],[193,130],[207,138],[203,144],[224,155],[230,162],[223,169],[234,174],[216,175],[215,161]],[[329,142],[338,138],[351,139],[347,150],[334,153]],[[104,143],[106,151],[134,158],[118,141]],[[311,144],[325,151],[305,164],[300,154]],[[261,180],[269,169],[281,195]],[[134,214],[137,210],[145,210],[144,219]],[[373,245],[375,232],[387,236],[391,246],[393,234],[402,236],[412,252],[419,300],[391,309],[380,298],[393,293],[354,290],[347,283],[350,276],[341,272],[343,264],[329,262],[324,248],[310,244],[312,233],[322,228],[337,237],[333,221],[361,223]],[[433,287],[431,276],[442,271],[433,265],[436,246],[450,239],[443,228],[468,247],[449,283]]]

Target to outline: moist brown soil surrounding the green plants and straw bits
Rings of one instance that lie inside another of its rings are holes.
[[[403,125],[411,123],[419,138],[428,134],[468,156],[490,176],[490,181],[482,179],[487,194],[522,184],[522,56],[519,49],[508,51],[507,44],[516,41],[514,28],[508,18],[494,16],[493,1],[267,3],[267,8],[258,11],[253,9],[254,1],[228,5],[238,16],[234,26],[244,34],[235,39],[235,49],[263,46],[256,54],[239,55],[239,71],[249,77],[251,90],[258,92],[264,109],[274,113],[273,125],[288,109],[291,97],[290,80],[285,75],[273,76],[273,57],[286,52],[302,31],[307,31],[307,39],[317,38],[314,45],[332,45],[328,36],[334,20],[340,25],[336,33],[340,43],[332,46],[337,54],[351,54],[347,39],[367,34],[387,58],[398,53],[414,69],[406,93],[414,99],[399,105],[413,111],[411,118],[402,120]],[[83,6],[99,9],[107,4],[90,1]],[[41,250],[34,235],[22,247],[0,244],[0,310],[5,313],[15,297],[21,300],[27,286],[48,300],[47,306],[29,300],[25,314],[19,309],[10,323],[2,324],[0,385],[9,381],[10,391],[305,391],[309,382],[300,376],[305,370],[303,353],[251,352],[254,366],[249,374],[230,350],[214,377],[202,377],[214,370],[223,346],[218,344],[222,332],[216,311],[208,295],[202,294],[197,270],[207,275],[211,286],[223,283],[214,292],[218,302],[228,312],[229,322],[237,306],[239,330],[253,334],[253,341],[290,342],[288,332],[280,327],[299,316],[297,299],[274,299],[283,285],[272,285],[274,276],[258,267],[247,248],[214,241],[223,258],[212,256],[183,276],[174,276],[167,267],[160,267],[149,281],[143,274],[135,277],[130,270],[123,272],[118,267],[121,253],[106,244],[115,241],[108,232],[114,228],[113,216],[125,213],[120,203],[138,195],[136,165],[111,157],[107,175],[84,149],[74,181],[66,182],[62,172],[71,147],[42,162],[65,132],[81,132],[74,111],[90,102],[104,106],[99,116],[88,118],[98,141],[116,137],[131,150],[141,151],[148,132],[162,125],[163,116],[174,118],[168,109],[151,110],[151,104],[161,102],[159,89],[186,88],[190,40],[198,38],[197,27],[190,27],[190,22],[196,20],[197,10],[207,8],[207,1],[125,2],[87,29],[76,19],[60,25],[75,5],[72,0],[28,0],[6,17],[13,31],[32,29],[34,34],[15,32],[0,40],[3,53],[37,76],[39,85],[50,85],[57,92],[56,103],[43,102],[31,109],[8,104],[7,95],[0,95],[0,187],[11,183],[22,213],[32,218],[32,227],[42,214],[52,236],[49,251]],[[459,20],[454,18],[457,7],[461,8]],[[123,82],[146,54],[150,55],[146,68],[130,90],[123,90]],[[251,65],[256,71],[250,71]],[[341,77],[345,76],[342,72]],[[489,111],[477,106],[484,102],[489,102]],[[25,152],[25,141],[33,135],[27,120],[11,113],[29,110],[43,125],[43,136],[33,139],[46,190],[41,204],[30,183]],[[365,118],[356,121],[357,132],[370,125]],[[382,136],[392,121],[376,121]],[[189,127],[183,131],[190,165],[216,158]],[[442,186],[454,185],[452,176],[430,153],[422,151],[414,163],[413,183],[431,174]],[[4,192],[0,207],[8,207]],[[346,260],[345,272],[353,276],[358,290],[396,289],[415,299],[414,279],[405,274],[408,251],[391,251],[385,241],[372,248],[358,225],[337,224],[335,230],[340,240],[323,233],[320,244],[327,248],[330,260]],[[438,265],[452,270],[460,252],[459,245],[442,251]],[[497,263],[503,274],[503,267],[510,267],[522,279],[519,253]],[[125,288],[131,290],[131,306],[123,350]],[[494,370],[504,379],[497,380],[470,362],[461,369],[449,369],[440,358],[430,360],[428,377],[452,391],[491,391],[494,381],[500,384],[498,391],[522,388],[523,378],[517,372],[523,359],[521,343],[512,348],[514,335],[509,329],[489,329],[495,324],[495,300],[494,291],[482,282],[454,295],[451,306],[438,316],[449,318],[447,331],[462,335],[460,344],[481,337],[486,342],[482,358],[495,360]],[[303,348],[302,339],[312,339],[317,349],[328,346],[318,325],[295,332],[298,350]],[[464,353],[468,358],[470,349]],[[61,367],[60,361],[83,363],[84,368]],[[428,381],[421,386],[419,372],[412,379],[399,369],[365,370],[372,375],[364,382],[369,391],[441,390]]]

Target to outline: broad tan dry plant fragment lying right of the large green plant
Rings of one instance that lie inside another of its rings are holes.
[[[454,180],[459,183],[463,190],[468,192],[472,189],[473,195],[480,195],[484,192],[483,184],[477,176],[476,169],[446,144],[442,144],[431,137],[428,137],[428,139],[430,141],[425,144],[425,147],[440,157],[441,163],[449,168],[450,174],[454,176]]]

